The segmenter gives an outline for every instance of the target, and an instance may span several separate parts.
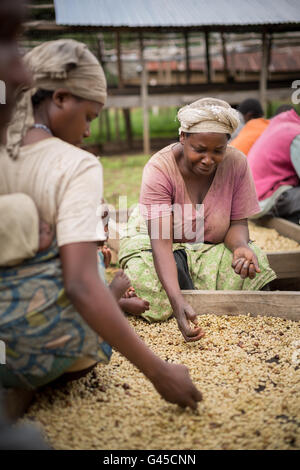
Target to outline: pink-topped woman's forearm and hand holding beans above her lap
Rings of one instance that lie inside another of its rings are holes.
[[[242,279],[254,279],[260,273],[256,254],[249,248],[248,220],[232,220],[224,239],[225,246],[232,251],[232,267]]]

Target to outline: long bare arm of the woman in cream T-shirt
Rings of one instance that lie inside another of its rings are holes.
[[[89,326],[131,361],[171,403],[196,409],[202,399],[188,369],[157,357],[130,327],[97,270],[96,244],[71,243],[60,248],[66,294]]]

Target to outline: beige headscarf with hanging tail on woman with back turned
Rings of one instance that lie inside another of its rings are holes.
[[[7,132],[6,149],[17,158],[20,143],[34,124],[31,97],[38,89],[66,88],[75,96],[105,104],[106,79],[101,65],[87,46],[73,39],[49,41],[32,49],[24,62],[33,76],[32,88],[23,90]]]

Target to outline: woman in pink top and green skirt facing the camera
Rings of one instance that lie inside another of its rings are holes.
[[[119,260],[150,302],[142,316],[159,321],[173,312],[184,338],[195,341],[202,333],[190,327],[196,313],[180,289],[259,290],[276,276],[249,245],[247,218],[260,209],[247,159],[227,145],[237,112],[205,98],[180,109],[178,120],[180,141],[144,168],[140,211],[128,221]]]

